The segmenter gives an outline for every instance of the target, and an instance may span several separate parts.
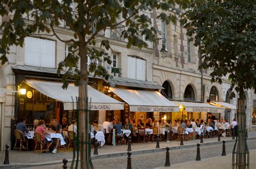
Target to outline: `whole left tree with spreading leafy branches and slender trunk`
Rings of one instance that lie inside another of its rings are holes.
[[[58,40],[72,45],[72,54],[59,63],[58,73],[65,71],[63,88],[68,87],[67,79],[70,78],[75,79],[76,85],[79,86],[79,109],[83,110],[79,111],[79,135],[81,136],[79,145],[82,150],[80,151],[80,166],[82,168],[90,168],[88,161],[90,154],[87,151],[90,145],[86,146],[88,142],[83,144],[88,140],[87,133],[89,133],[89,125],[85,123],[88,74],[94,72],[95,75],[108,79],[109,74],[106,69],[97,65],[97,61],[103,57],[104,61],[111,63],[106,53],[110,47],[109,41],[104,37],[98,37],[98,34],[123,24],[127,27],[122,32],[123,38],[129,40],[127,47],[146,47],[146,43],[139,37],[144,36],[146,40],[155,41],[158,31],[152,26],[151,18],[143,11],[159,10],[159,19],[166,23],[175,22],[176,16],[167,15],[165,11],[179,13],[180,8],[188,7],[188,2],[189,0],[2,0],[0,2],[0,15],[10,15],[10,19],[1,25],[3,34],[0,60],[2,64],[8,61],[8,51],[11,45],[23,46],[24,38],[35,34],[55,36]],[[59,37],[56,28],[63,22],[73,33],[73,38]],[[96,40],[96,37],[100,40]],[[94,60],[90,64],[89,72],[87,71],[87,56]],[[78,67],[78,61],[80,61],[80,67]]]

